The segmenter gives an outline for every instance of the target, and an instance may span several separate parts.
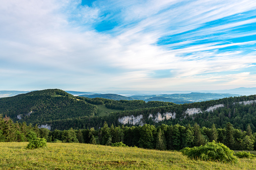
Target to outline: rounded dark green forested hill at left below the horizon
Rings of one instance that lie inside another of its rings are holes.
[[[95,105],[58,89],[0,98],[0,114],[27,123],[94,116],[97,112]]]

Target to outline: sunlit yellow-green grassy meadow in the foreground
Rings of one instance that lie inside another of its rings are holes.
[[[180,152],[79,143],[0,142],[0,169],[255,169],[256,159],[236,164],[190,160]]]

